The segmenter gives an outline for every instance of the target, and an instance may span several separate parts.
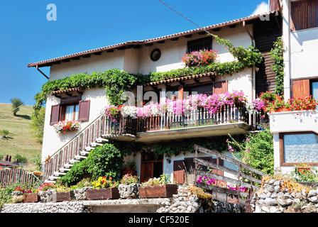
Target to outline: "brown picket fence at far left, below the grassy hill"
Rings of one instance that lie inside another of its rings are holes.
[[[37,181],[38,179],[34,175],[23,169],[0,170],[0,184],[10,185],[17,182],[24,184]]]

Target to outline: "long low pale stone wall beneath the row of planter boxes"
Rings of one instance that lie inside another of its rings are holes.
[[[50,194],[40,194],[38,203],[4,204],[0,213],[99,213],[99,212],[136,212],[136,207],[146,207],[146,212],[157,213],[243,213],[244,206],[239,204],[226,204],[212,199],[202,199],[197,194],[192,194],[189,187],[178,187],[177,194],[172,198],[163,199],[138,199],[139,185],[132,185],[131,189],[121,192],[121,199],[111,200],[86,200],[86,190],[76,189],[72,201],[50,202]],[[127,194],[128,191],[133,196]],[[138,190],[137,190],[138,191]],[[135,199],[132,199],[135,198]]]

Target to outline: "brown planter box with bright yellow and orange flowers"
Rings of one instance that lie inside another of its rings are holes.
[[[112,180],[111,177],[99,177],[92,182],[93,189],[87,189],[87,199],[119,199],[118,182]]]

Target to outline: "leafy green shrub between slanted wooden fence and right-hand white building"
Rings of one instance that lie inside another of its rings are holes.
[[[268,128],[248,134],[241,142],[231,137],[228,143],[236,148],[241,162],[268,175],[274,174],[273,135]]]

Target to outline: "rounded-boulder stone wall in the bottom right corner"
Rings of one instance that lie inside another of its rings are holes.
[[[253,213],[317,213],[318,189],[288,179],[265,179],[251,201]]]

